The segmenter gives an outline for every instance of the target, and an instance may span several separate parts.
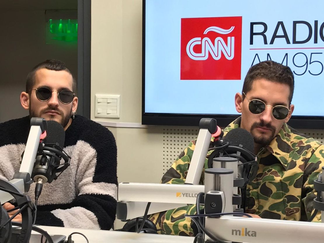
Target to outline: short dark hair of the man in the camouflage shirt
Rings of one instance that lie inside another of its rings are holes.
[[[252,89],[254,80],[264,78],[272,82],[286,84],[290,88],[289,103],[293,99],[294,94],[294,74],[290,67],[274,61],[264,61],[250,67],[243,83],[243,92],[247,94]],[[244,99],[244,96],[243,96]]]

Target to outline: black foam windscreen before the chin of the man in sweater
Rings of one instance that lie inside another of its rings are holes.
[[[65,141],[65,131],[63,126],[56,121],[46,121],[46,140],[45,144],[55,144],[58,143],[61,148],[64,147]]]

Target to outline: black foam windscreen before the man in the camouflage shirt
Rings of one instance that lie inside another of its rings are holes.
[[[235,128],[230,130],[224,137],[224,142],[230,145],[243,145],[243,148],[254,152],[254,139],[251,133],[243,128]]]

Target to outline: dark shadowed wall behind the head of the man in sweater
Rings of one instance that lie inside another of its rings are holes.
[[[47,45],[44,14],[42,10],[0,10],[0,122],[28,115],[19,95],[25,91],[26,76],[36,64],[59,59],[77,75],[77,45]]]

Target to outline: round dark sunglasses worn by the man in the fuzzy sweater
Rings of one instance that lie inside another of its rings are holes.
[[[40,88],[35,88],[31,90],[36,90],[36,97],[40,101],[47,101],[52,97],[53,92],[57,91],[52,91],[51,89],[47,87],[40,87]],[[75,97],[75,93],[73,93],[71,90],[68,89],[63,89],[59,92],[57,92],[57,97],[63,104],[70,104]]]

